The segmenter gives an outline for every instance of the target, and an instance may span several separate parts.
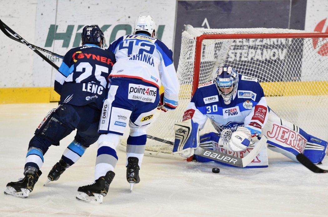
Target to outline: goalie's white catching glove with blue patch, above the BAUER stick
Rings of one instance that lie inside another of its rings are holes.
[[[224,129],[221,132],[219,146],[232,152],[245,151],[251,143],[251,131],[246,127],[238,127],[235,132]],[[216,149],[213,147],[214,150]],[[218,150],[217,150],[218,151]]]

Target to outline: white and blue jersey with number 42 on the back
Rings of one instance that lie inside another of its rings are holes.
[[[177,107],[180,86],[172,51],[163,42],[146,34],[125,35],[108,49],[116,57],[111,77],[136,78],[157,88],[163,85],[165,104]]]

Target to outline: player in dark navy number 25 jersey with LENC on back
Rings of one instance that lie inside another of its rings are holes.
[[[55,76],[54,89],[60,95],[59,106],[52,109],[35,130],[26,156],[24,178],[8,183],[5,194],[28,197],[42,174],[40,169],[48,148],[59,145],[59,141],[73,130],[77,130],[74,140],[51,169],[48,182],[57,180],[99,137],[101,108],[115,55],[103,49],[105,37],[98,26],[84,27],[81,38],[82,47],[65,54]]]

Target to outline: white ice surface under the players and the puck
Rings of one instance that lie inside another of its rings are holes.
[[[28,143],[56,103],[0,105],[0,186],[23,177]],[[43,186],[74,133],[51,146],[39,181],[29,198],[0,193],[0,216],[327,216],[328,174],[316,174],[269,150],[269,167],[232,168],[144,157],[141,181],[125,178],[125,153],[118,150],[116,176],[103,204],[77,201],[77,188],[93,182],[97,145],[68,168],[58,181]],[[328,158],[322,168],[328,169]],[[220,173],[212,173],[219,167]]]

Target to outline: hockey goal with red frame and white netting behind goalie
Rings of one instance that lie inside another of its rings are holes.
[[[177,69],[178,108],[156,114],[147,135],[174,141],[174,124],[182,121],[198,85],[214,79],[218,67],[230,65],[259,80],[268,106],[280,118],[327,141],[327,37],[328,33],[289,29],[189,28],[182,33]],[[211,131],[215,129],[208,119],[200,133]],[[148,139],[145,153],[166,158],[172,156],[172,148]]]

